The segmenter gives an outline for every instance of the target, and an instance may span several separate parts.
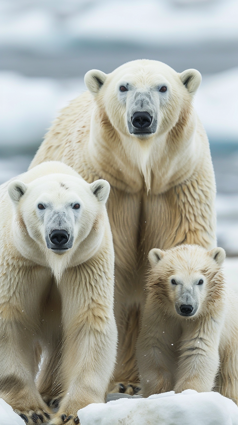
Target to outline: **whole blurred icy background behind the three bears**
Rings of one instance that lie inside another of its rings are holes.
[[[237,257],[238,0],[0,0],[0,183],[27,169],[86,71],[141,58],[202,74],[195,108],[215,168],[218,245]],[[237,280],[238,260],[227,264]]]

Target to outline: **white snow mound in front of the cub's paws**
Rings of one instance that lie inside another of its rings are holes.
[[[148,398],[122,398],[78,411],[81,425],[238,425],[238,407],[219,393],[186,390]]]

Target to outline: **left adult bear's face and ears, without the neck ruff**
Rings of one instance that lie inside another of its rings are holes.
[[[17,219],[23,221],[30,238],[41,249],[58,255],[75,251],[87,238],[109,191],[105,180],[88,184],[64,174],[44,176],[29,184],[12,181],[8,186]],[[15,244],[20,249],[20,235]]]

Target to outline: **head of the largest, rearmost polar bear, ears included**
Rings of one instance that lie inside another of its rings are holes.
[[[201,74],[194,69],[178,74],[152,60],[128,62],[108,75],[98,70],[85,75],[113,127],[142,140],[170,130],[200,83]]]

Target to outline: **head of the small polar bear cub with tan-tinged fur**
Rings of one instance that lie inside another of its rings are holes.
[[[221,300],[224,278],[223,248],[207,251],[198,245],[180,245],[167,251],[151,249],[148,290],[172,315],[189,318],[207,314]]]

